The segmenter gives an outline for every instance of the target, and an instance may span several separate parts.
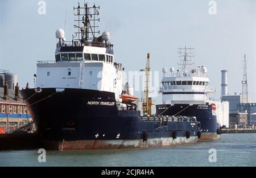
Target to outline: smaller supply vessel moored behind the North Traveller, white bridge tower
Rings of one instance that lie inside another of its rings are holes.
[[[200,140],[216,140],[220,138],[221,115],[225,104],[211,100],[207,95],[214,93],[215,88],[209,86],[207,68],[195,67],[193,61],[194,48],[178,48],[180,69],[163,68],[162,104],[156,105],[158,115],[187,115],[196,117],[201,123]],[[222,107],[223,106],[223,107]],[[218,108],[217,108],[218,107]]]

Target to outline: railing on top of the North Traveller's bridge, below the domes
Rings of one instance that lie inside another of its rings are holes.
[[[57,48],[58,47],[79,47],[79,46],[89,46],[89,47],[100,47],[100,48],[108,48],[108,49],[113,49],[113,44],[111,43],[104,43],[104,42],[85,42],[81,44],[79,41],[74,40],[74,41],[65,41],[61,43],[57,43]]]

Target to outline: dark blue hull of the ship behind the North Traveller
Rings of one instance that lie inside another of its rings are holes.
[[[156,105],[158,115],[187,115],[196,117],[201,124],[201,141],[220,139],[217,117],[212,111],[212,105]]]

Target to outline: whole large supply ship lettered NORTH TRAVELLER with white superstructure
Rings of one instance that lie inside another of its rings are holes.
[[[141,115],[123,89],[110,33],[98,31],[100,6],[74,7],[72,42],[56,31],[55,61],[38,61],[36,87],[21,91],[48,150],[140,148],[194,143],[196,117]]]

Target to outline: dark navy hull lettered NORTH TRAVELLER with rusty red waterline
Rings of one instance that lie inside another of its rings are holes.
[[[118,110],[110,92],[44,88],[21,94],[47,150],[171,146],[195,143],[200,134],[196,121],[149,121],[140,111]]]

